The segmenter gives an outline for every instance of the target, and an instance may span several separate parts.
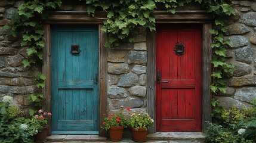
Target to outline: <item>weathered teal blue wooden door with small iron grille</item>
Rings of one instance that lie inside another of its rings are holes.
[[[52,133],[98,134],[98,27],[51,32]]]

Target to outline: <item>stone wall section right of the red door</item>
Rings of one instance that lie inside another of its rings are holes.
[[[225,108],[233,104],[242,108],[256,98],[256,2],[232,1],[236,15],[229,18],[226,38],[229,62],[235,70],[227,83],[226,94],[218,94]]]

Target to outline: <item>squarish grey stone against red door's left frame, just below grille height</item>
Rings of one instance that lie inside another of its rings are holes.
[[[129,51],[128,64],[141,64],[143,66],[146,66],[147,52],[146,51]]]

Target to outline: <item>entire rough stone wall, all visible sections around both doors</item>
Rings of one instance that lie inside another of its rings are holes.
[[[13,18],[14,7],[6,0],[0,1],[0,29]],[[229,62],[236,66],[227,83],[227,93],[218,94],[221,105],[226,108],[233,104],[238,107],[250,105],[256,97],[256,2],[232,1],[236,15],[229,18],[226,39],[232,45],[227,48]],[[200,6],[197,6],[197,10]],[[64,4],[61,10],[86,10],[83,5]],[[26,107],[27,95],[35,91],[33,77],[41,66],[24,68],[21,61],[28,58],[27,47],[20,47],[20,37],[6,36],[0,30],[0,100],[4,95],[14,97],[16,104]],[[121,43],[107,49],[107,97],[108,108],[117,110],[121,105],[134,110],[146,111],[146,30],[140,30],[133,43]]]

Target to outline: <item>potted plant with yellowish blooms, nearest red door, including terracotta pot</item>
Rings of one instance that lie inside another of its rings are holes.
[[[131,126],[133,140],[135,142],[144,142],[147,140],[147,129],[153,126],[154,120],[147,113],[131,114],[129,125]]]

